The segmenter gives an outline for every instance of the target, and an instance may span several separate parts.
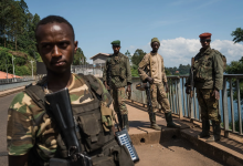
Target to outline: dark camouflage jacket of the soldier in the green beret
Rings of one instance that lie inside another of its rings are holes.
[[[131,83],[130,63],[126,55],[118,53],[108,56],[103,72],[103,81],[107,81],[107,83],[109,82],[109,66],[112,85],[115,87],[124,87]]]

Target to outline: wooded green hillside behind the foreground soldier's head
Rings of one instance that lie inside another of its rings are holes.
[[[30,60],[42,61],[34,37],[39,21],[40,15],[32,14],[24,0],[0,0],[0,71],[13,73],[13,58],[15,74],[30,75]],[[78,48],[73,64],[82,62],[86,62],[86,58]]]

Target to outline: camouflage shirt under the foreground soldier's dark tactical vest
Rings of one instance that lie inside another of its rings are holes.
[[[96,80],[99,84],[99,90],[102,90],[103,101],[110,103],[109,93],[102,81]],[[45,84],[44,79],[41,84]],[[94,101],[92,90],[77,75],[73,74],[73,82],[68,90],[72,106]],[[45,94],[49,93],[49,90],[44,86],[43,91]],[[7,148],[9,155],[20,156],[32,148],[36,148],[38,155],[42,159],[49,160],[50,156],[54,156],[56,153],[59,133],[55,122],[49,116],[46,111],[38,106],[27,93],[21,92],[13,98],[8,110]]]

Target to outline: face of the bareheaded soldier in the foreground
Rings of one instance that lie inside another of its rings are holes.
[[[36,30],[36,48],[47,69],[53,73],[70,72],[77,41],[66,23],[47,23]]]

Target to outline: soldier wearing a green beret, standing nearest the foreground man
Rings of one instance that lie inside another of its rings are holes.
[[[119,52],[120,41],[116,40],[112,42],[114,54],[109,55],[106,60],[103,81],[106,89],[110,89],[113,96],[113,106],[117,113],[120,128],[129,129],[128,124],[128,111],[125,104],[126,92],[130,93],[131,73],[129,59]]]

